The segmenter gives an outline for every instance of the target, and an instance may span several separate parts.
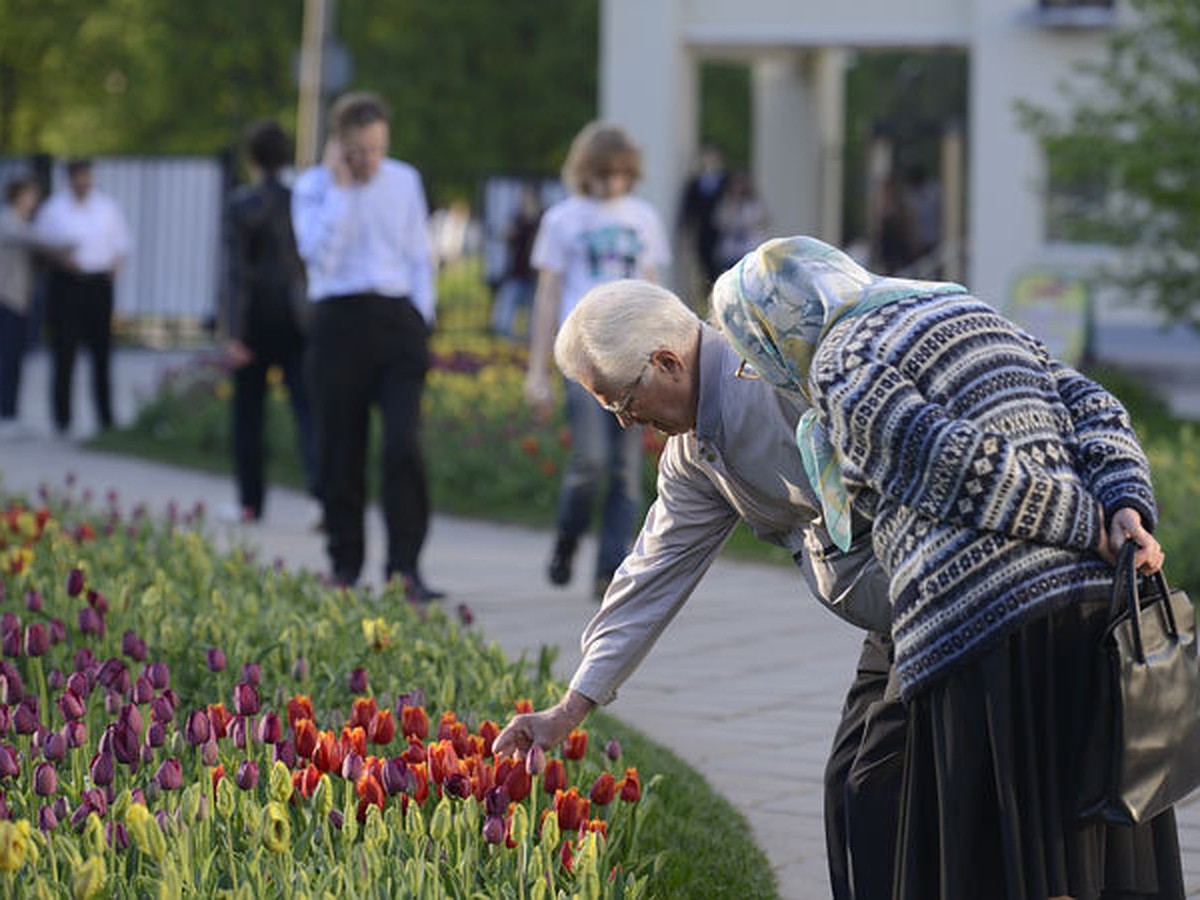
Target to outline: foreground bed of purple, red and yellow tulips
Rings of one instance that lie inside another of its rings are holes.
[[[647,894],[656,779],[583,731],[491,751],[556,685],[397,592],[216,556],[196,521],[0,508],[8,892]]]

